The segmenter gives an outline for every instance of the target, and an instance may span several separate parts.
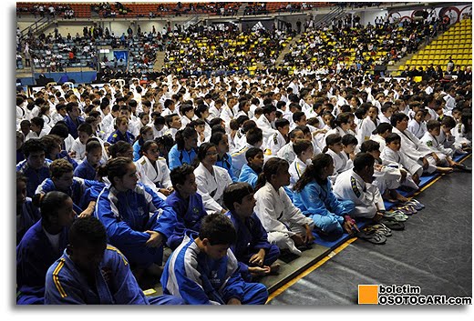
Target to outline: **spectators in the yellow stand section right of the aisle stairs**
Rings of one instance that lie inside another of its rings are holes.
[[[305,28],[283,64],[302,66],[334,65],[342,73],[373,70],[376,65],[393,65],[414,53],[422,44],[426,30],[437,27],[436,21],[393,21],[361,25],[357,15],[346,15],[322,29]]]

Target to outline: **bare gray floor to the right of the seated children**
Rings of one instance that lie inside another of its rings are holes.
[[[464,164],[471,166],[469,157]],[[472,176],[452,173],[418,195],[426,208],[385,245],[358,239],[270,305],[353,305],[358,285],[420,286],[422,295],[472,297]]]

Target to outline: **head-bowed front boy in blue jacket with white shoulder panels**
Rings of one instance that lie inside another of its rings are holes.
[[[182,298],[189,305],[263,305],[268,292],[260,283],[247,283],[230,247],[237,232],[229,217],[205,216],[199,235],[187,232],[166,263],[163,294]]]

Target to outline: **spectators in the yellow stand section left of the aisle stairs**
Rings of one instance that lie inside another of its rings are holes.
[[[180,75],[244,70],[274,65],[289,35],[266,29],[238,31],[235,25],[197,26],[175,35],[167,45],[165,65]]]

